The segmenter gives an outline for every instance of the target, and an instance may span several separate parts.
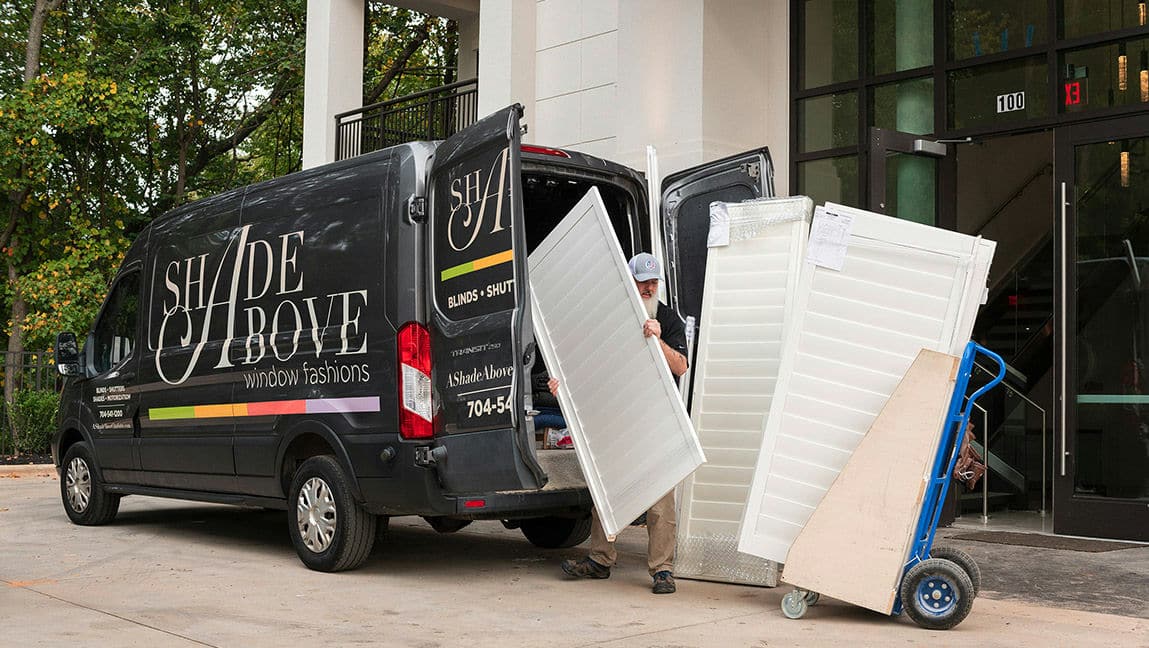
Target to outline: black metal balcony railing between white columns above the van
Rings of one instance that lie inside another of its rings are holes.
[[[336,160],[388,146],[446,139],[478,117],[479,79],[468,79],[336,115]]]

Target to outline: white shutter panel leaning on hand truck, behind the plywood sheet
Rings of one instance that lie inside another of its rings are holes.
[[[843,264],[803,268],[740,526],[740,551],[778,562],[918,352],[961,355],[994,249],[978,237],[826,209],[853,218]]]

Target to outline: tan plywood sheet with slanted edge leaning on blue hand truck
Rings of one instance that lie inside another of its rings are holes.
[[[794,540],[786,583],[893,611],[959,362],[918,354]]]

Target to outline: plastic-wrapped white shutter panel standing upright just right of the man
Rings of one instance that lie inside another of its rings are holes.
[[[726,245],[710,247],[691,421],[709,461],[679,492],[674,576],[774,586],[778,565],[738,551],[762,432],[781,362],[813,203],[715,203]]]

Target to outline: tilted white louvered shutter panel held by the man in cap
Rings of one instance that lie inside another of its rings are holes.
[[[599,191],[530,256],[535,339],[610,535],[705,461]]]

